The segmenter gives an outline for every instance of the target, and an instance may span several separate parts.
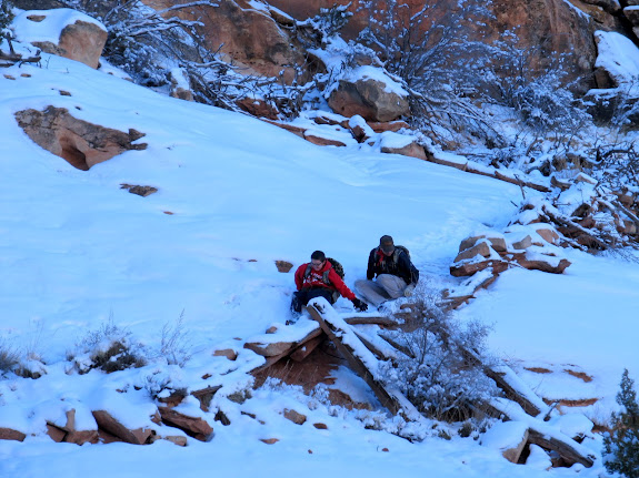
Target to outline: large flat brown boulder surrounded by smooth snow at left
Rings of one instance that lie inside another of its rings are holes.
[[[89,123],[73,118],[64,108],[23,110],[16,113],[16,120],[31,140],[82,171],[124,151],[147,148],[146,143],[133,144],[144,135],[139,131],[124,133]]]

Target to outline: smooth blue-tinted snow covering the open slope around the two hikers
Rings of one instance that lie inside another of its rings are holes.
[[[29,431],[23,443],[0,440],[0,476],[547,475],[549,461],[512,465],[472,438],[411,444],[366,429],[355,411],[272,384],[244,403],[244,411],[263,423],[239,411],[228,427],[206,417],[216,430],[208,443],[54,444],[41,424],[64,404],[109,407],[121,395],[116,389],[157,367],[110,376],[67,373],[69,350],[88,332],[112,323],[157,350],[162,327],[182,316],[192,358],[183,369],[161,373],[186,386],[207,370],[230,374],[211,353],[233,347],[236,368],[249,369],[262,358],[241,344],[273,324],[283,326],[290,314],[292,273],[279,273],[274,261],[297,266],[322,250],[343,264],[352,287],[366,274],[369,251],[391,234],[410,248],[422,291],[456,287],[462,281],[449,275],[449,266],[460,241],[506,227],[521,191],[367,144],[316,146],[264,122],[162,96],[59,57],[44,54],[41,65],[1,73],[0,339],[3,347],[41,357],[47,375],[0,379],[0,427]],[[48,105],[103,126],[136,129],[148,148],[77,170],[34,144],[14,119],[18,111]],[[158,192],[140,197],[122,183]],[[639,374],[639,269],[613,256],[566,256],[572,265],[561,275],[503,273],[458,315],[492,324],[492,352],[536,390],[557,399],[598,398],[578,410],[605,421],[616,407],[622,369]],[[340,299],[338,306],[348,309],[350,303]],[[366,393],[363,382],[342,372],[345,387]],[[138,407],[151,403],[143,389],[127,395]],[[301,427],[280,415],[294,407],[309,416]],[[279,441],[260,441],[266,438]],[[600,458],[600,437],[585,446]],[[590,469],[552,472],[597,477],[602,465],[599,459]]]

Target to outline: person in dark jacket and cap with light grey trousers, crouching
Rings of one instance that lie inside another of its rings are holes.
[[[366,277],[366,281],[357,281],[355,286],[363,298],[379,308],[387,301],[412,295],[419,271],[410,262],[407,251],[396,247],[392,237],[383,235],[379,246],[368,256]]]

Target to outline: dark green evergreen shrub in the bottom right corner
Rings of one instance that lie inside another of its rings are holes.
[[[612,414],[612,431],[603,439],[605,465],[609,472],[639,478],[639,403],[628,369],[623,370],[620,388],[617,403],[625,411]]]

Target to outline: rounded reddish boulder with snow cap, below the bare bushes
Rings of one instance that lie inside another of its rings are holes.
[[[366,121],[388,122],[410,115],[408,93],[380,69],[359,67],[340,79],[328,99],[342,116],[359,114]]]

